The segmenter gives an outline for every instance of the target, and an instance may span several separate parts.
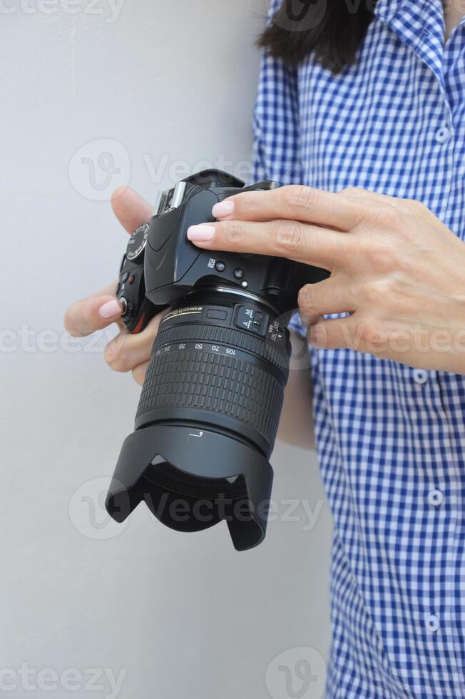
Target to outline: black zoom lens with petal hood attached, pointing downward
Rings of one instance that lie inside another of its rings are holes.
[[[259,544],[289,361],[287,330],[259,297],[208,288],[172,307],[113,476],[111,516],[123,521],[144,499],[178,531],[225,520],[236,549]]]

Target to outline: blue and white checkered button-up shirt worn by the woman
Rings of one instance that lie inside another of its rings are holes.
[[[265,56],[255,180],[416,199],[465,240],[464,31],[444,48],[441,0],[379,0],[337,76]],[[334,518],[327,697],[465,697],[465,377],[311,353]]]

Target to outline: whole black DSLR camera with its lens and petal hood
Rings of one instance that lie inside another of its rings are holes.
[[[213,206],[246,190],[205,170],[160,194],[150,225],[133,234],[117,294],[123,322],[160,322],[136,415],[106,506],[123,521],[142,500],[178,531],[221,520],[243,550],[265,536],[275,444],[290,361],[282,317],[329,272],[280,257],[211,252],[187,238]]]

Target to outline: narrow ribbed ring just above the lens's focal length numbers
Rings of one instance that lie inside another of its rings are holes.
[[[257,337],[250,332],[234,330],[232,327],[222,327],[220,325],[175,325],[158,333],[153,350],[157,350],[162,345],[170,345],[172,342],[215,342],[218,345],[228,345],[237,350],[253,352],[258,357],[262,357],[267,362],[280,369],[285,380],[289,372],[289,359],[282,352],[272,347],[270,342],[266,342],[264,337]]]

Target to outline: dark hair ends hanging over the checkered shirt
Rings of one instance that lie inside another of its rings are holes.
[[[334,73],[353,65],[377,0],[283,0],[258,44],[296,66],[307,56]]]

